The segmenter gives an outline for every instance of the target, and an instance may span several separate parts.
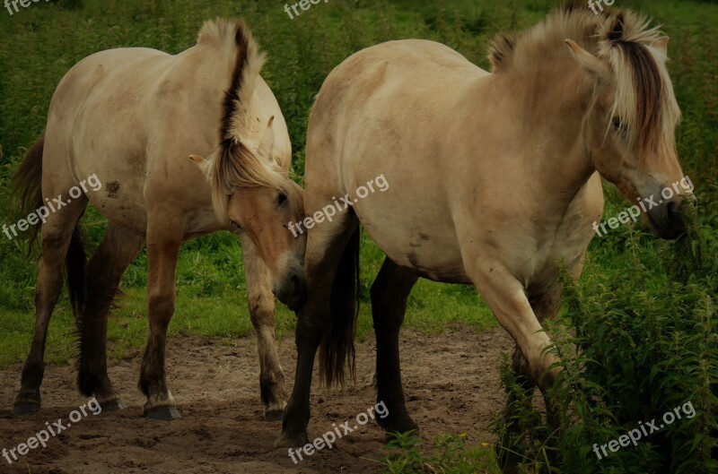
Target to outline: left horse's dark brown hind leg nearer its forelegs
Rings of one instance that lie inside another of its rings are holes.
[[[85,269],[86,302],[77,318],[77,386],[83,395],[94,395],[103,411],[124,408],[107,373],[107,320],[119,280],[143,246],[144,237],[110,223]]]

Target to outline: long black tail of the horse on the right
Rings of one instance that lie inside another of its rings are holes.
[[[320,379],[344,384],[345,366],[355,379],[356,318],[359,316],[359,243],[357,226],[344,249],[331,289],[329,326],[320,345]]]

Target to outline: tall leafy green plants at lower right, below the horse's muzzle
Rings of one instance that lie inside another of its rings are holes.
[[[499,451],[520,453],[534,472],[718,471],[718,239],[697,222],[676,243],[646,241],[630,228],[622,237],[621,271],[597,271],[581,283],[565,277],[565,313],[550,326],[563,334],[553,350],[565,381],[549,394],[561,406],[561,431],[542,421],[504,366],[519,414],[496,420]],[[660,291],[648,276],[661,282]],[[685,406],[695,416],[687,418]],[[664,422],[679,407],[683,416]],[[659,431],[648,428],[617,452],[616,444],[605,446],[654,418]]]

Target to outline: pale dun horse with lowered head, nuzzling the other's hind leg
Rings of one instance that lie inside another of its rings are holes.
[[[57,86],[46,132],[16,177],[23,207],[66,199],[84,177],[96,175],[102,187],[68,199],[42,226],[37,323],[15,414],[39,409],[48,322],[65,264],[80,330],[80,392],[95,396],[104,410],[122,407],[107,372],[108,311],[127,265],[146,243],[144,414],[179,417],[165,380],[165,340],[180,245],[231,230],[244,255],[265,415],[281,418],[286,392],[273,292],[292,308],[302,305],[306,242],[285,228],[303,217],[302,189],[287,176],[289,134],[259,75],[264,60],[242,22],[218,20],[206,22],[197,45],[176,56],[145,48],[104,51],[83,59]],[[78,220],[88,203],[109,227],[85,264]]]

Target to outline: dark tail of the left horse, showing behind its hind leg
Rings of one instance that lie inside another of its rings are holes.
[[[45,148],[45,132],[37,142],[33,143],[20,168],[15,173],[12,182],[13,194],[20,198],[22,215],[28,215],[44,205],[42,199],[42,153]],[[39,226],[32,226],[28,255],[38,241]],[[74,226],[73,236],[65,258],[65,271],[70,304],[73,307],[75,318],[79,322],[84,306],[84,266],[87,260],[85,254],[85,237],[80,221]]]

